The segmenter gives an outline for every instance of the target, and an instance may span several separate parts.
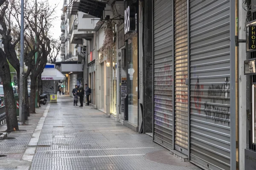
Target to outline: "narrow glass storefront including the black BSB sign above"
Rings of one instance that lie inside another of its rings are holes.
[[[125,120],[137,131],[138,125],[138,30],[137,30],[138,2],[125,1],[124,40],[126,42],[126,82],[127,96],[125,102]],[[127,117],[128,116],[128,119]]]

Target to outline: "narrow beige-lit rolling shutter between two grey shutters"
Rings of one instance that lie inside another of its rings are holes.
[[[187,0],[175,0],[175,149],[188,155]]]

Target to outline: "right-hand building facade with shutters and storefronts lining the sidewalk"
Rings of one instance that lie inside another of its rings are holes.
[[[244,75],[244,60],[256,55],[245,43],[236,47],[235,35],[246,38],[244,3],[73,3],[70,43],[91,104],[202,169],[246,169],[246,150],[256,153],[256,114],[255,76]]]

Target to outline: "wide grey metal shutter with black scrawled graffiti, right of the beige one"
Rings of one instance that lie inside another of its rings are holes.
[[[230,1],[190,0],[191,162],[230,170]]]

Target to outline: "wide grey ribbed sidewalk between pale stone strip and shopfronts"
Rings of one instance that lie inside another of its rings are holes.
[[[199,170],[101,111],[73,106],[65,96],[58,101],[37,127],[31,170]]]

